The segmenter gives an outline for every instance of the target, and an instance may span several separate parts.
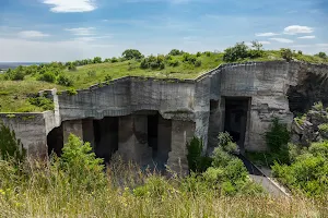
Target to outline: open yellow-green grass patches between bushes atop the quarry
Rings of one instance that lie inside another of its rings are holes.
[[[112,78],[118,78],[126,75],[136,76],[154,76],[154,77],[174,77],[174,78],[195,78],[202,73],[216,68],[224,63],[222,58],[223,53],[212,53],[210,57],[202,55],[198,59],[202,64],[199,68],[183,63],[181,56],[173,57],[178,59],[180,64],[176,68],[166,65],[164,70],[142,70],[140,69],[140,62],[137,61],[124,61],[117,63],[99,63],[79,66],[77,71],[66,71],[66,74],[74,81],[73,87],[87,88],[98,82],[104,82],[105,76],[109,75]],[[318,57],[295,55],[297,60],[307,62],[328,62],[328,60],[320,59]],[[268,61],[280,60],[279,51],[266,51],[266,56],[253,61]],[[250,60],[250,59],[249,59]],[[249,61],[243,60],[243,61]],[[94,72],[94,73],[90,73]],[[0,75],[0,112],[36,112],[43,111],[42,108],[32,106],[26,99],[28,94],[36,94],[42,89],[51,89],[56,87],[59,90],[63,90],[67,87],[54,84],[36,81],[35,77],[26,76],[24,81],[13,82],[4,81]]]

